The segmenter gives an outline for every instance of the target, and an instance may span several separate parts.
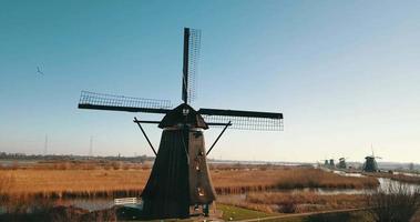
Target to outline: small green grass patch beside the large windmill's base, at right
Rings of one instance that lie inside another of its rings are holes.
[[[218,210],[223,211],[223,220],[225,221],[237,221],[237,220],[246,220],[246,219],[258,219],[273,216],[277,214],[269,214],[259,211],[253,211],[248,209],[237,208],[233,205],[225,205],[218,203],[216,206]]]

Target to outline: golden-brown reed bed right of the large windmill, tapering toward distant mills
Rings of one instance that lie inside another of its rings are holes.
[[[375,178],[342,176],[309,168],[215,171],[212,172],[212,178],[216,192],[221,194],[260,192],[273,189],[365,189],[379,185]]]

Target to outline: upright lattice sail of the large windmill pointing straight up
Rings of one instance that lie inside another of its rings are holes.
[[[191,103],[196,98],[201,38],[201,30],[189,28],[184,29],[182,100],[185,103]]]

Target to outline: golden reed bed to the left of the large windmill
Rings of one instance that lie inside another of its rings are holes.
[[[8,196],[96,198],[139,194],[150,170],[13,170]]]

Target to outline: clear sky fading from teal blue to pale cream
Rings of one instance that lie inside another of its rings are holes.
[[[133,113],[81,90],[181,102],[183,28],[202,29],[194,107],[280,111],[212,158],[420,162],[420,1],[0,0],[0,151],[152,154]],[[41,67],[43,75],[37,74]],[[156,119],[137,114],[143,119]],[[160,133],[146,130],[155,147]],[[211,144],[221,129],[206,133]]]

